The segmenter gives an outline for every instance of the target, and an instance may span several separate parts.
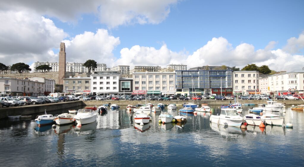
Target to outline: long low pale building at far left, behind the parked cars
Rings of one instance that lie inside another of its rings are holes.
[[[44,82],[0,78],[1,96],[42,96],[45,95]]]

